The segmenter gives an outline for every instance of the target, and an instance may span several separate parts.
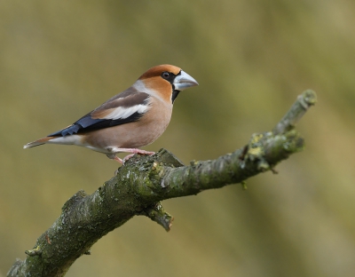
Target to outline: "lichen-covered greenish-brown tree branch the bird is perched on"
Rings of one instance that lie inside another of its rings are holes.
[[[36,241],[28,257],[17,259],[7,276],[64,276],[78,257],[130,218],[144,215],[167,231],[172,216],[161,201],[199,194],[201,191],[241,183],[304,149],[304,139],[294,129],[316,102],[313,91],[304,91],[276,127],[253,134],[248,145],[216,160],[184,166],[167,150],[153,156],[133,156],[91,195],[79,191],[63,206],[60,217]]]

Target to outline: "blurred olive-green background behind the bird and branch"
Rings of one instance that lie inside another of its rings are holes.
[[[215,159],[269,131],[296,96],[319,102],[306,149],[277,170],[163,202],[170,233],[136,217],[67,276],[355,276],[355,2],[20,1],[0,4],[0,276],[78,190],[118,164],[84,148],[29,141],[75,122],[147,68],[200,83],[175,102],[165,147]]]

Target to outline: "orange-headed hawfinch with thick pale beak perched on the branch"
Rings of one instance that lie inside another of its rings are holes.
[[[198,84],[180,67],[151,67],[130,88],[75,123],[23,148],[44,144],[83,146],[121,163],[134,154],[154,154],[139,148],[153,143],[166,130],[180,91]],[[118,153],[129,154],[121,159]]]

